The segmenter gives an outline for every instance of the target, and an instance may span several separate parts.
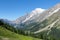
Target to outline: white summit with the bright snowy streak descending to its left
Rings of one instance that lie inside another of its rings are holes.
[[[33,11],[31,12],[31,14],[29,15],[29,17],[26,17],[26,19],[25,19],[22,23],[30,20],[30,19],[31,19],[33,16],[35,16],[35,15],[40,15],[43,11],[45,11],[45,9],[36,8],[35,10],[33,10]]]

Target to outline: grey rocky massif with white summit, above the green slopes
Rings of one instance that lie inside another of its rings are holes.
[[[29,24],[32,24],[32,23],[38,23],[38,22],[40,23],[59,10],[60,10],[60,4],[57,4],[57,5],[53,6],[52,8],[49,8],[48,10],[45,10],[42,8],[36,8],[30,14],[19,17],[14,22],[17,24],[18,27],[21,24],[28,26]]]

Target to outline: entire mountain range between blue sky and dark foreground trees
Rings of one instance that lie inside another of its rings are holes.
[[[43,34],[44,37],[60,40],[60,3],[47,10],[32,11],[15,21],[4,21],[18,29],[31,31],[37,37]]]

